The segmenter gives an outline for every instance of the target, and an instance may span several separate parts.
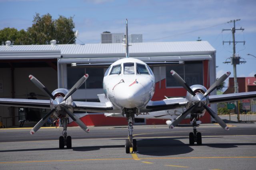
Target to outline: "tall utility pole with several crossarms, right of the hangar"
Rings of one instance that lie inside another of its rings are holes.
[[[244,63],[246,61],[240,61],[240,56],[236,56],[236,43],[240,43],[243,42],[245,44],[245,41],[236,41],[235,40],[235,32],[236,30],[242,30],[244,31],[244,28],[240,28],[240,29],[236,29],[236,21],[240,21],[240,19],[237,20],[230,20],[228,23],[234,23],[234,27],[231,28],[232,31],[232,38],[233,38],[233,55],[230,58],[230,62],[233,65],[233,72],[234,72],[234,93],[238,93],[238,84],[237,84],[237,78],[236,78],[236,64],[240,64],[240,63]],[[222,31],[230,31],[230,29],[222,29]],[[230,41],[223,41],[223,45],[224,43],[228,42],[229,44],[231,43]],[[223,62],[223,63],[229,63],[229,62]],[[236,114],[238,114],[238,102],[235,101],[235,112]],[[239,114],[237,117],[238,121],[239,121]]]

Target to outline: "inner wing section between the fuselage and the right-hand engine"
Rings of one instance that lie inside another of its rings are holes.
[[[156,112],[175,108],[183,108],[188,101],[186,98],[169,98],[168,100],[150,101],[147,106],[140,108],[140,112]]]

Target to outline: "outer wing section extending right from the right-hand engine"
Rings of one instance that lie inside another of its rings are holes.
[[[232,94],[220,94],[209,96],[210,104],[220,102],[231,102],[235,100],[256,98],[256,92],[243,92],[243,93],[232,93]]]

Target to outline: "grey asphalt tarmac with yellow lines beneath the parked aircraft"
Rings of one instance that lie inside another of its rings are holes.
[[[189,145],[192,127],[134,126],[138,153],[125,153],[127,126],[68,128],[72,149],[58,148],[62,128],[0,129],[0,170],[256,170],[256,124],[202,124],[202,145]]]

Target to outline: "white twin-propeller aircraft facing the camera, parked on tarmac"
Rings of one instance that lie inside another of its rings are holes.
[[[45,92],[45,94],[50,97],[50,100],[0,98],[0,105],[51,109],[51,111],[32,128],[30,134],[34,134],[53,114],[56,118],[60,118],[63,125],[63,136],[59,138],[59,148],[64,148],[64,146],[67,148],[72,147],[71,137],[67,136],[66,131],[68,117],[72,118],[85,132],[89,132],[88,127],[75,116],[74,111],[120,113],[125,115],[128,121],[129,139],[126,140],[125,148],[126,153],[130,153],[130,147],[132,147],[133,152],[137,151],[136,139],[133,139],[132,136],[135,115],[144,112],[186,108],[176,120],[170,123],[169,128],[177,126],[181,120],[190,113],[194,132],[189,134],[189,143],[193,145],[194,142],[197,142],[197,144],[200,145],[202,144],[202,137],[201,133],[196,130],[196,120],[198,120],[198,117],[204,114],[206,110],[222,128],[229,130],[228,126],[220,117],[208,107],[208,104],[244,98],[256,98],[256,92],[209,96],[210,92],[228,78],[230,72],[220,77],[207,90],[202,85],[188,86],[186,82],[172,70],[170,74],[188,91],[186,98],[151,101],[155,90],[154,74],[146,63],[135,58],[129,58],[127,37],[128,26],[126,20],[126,58],[111,64],[104,75],[103,89],[107,99],[106,102],[76,102],[72,100],[71,95],[86,81],[88,74],[78,80],[70,90],[59,88],[52,93],[34,76],[30,75],[30,80]]]

